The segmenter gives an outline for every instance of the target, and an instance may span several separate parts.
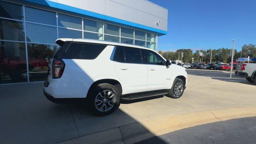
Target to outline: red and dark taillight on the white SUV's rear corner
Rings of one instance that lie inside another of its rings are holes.
[[[52,78],[60,78],[64,72],[65,63],[62,59],[54,59],[52,62]]]

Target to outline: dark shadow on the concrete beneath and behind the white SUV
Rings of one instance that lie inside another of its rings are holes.
[[[129,135],[130,130],[125,126],[138,121],[120,109],[108,116],[98,117],[90,114],[81,104],[54,104],[45,98],[42,85],[38,82],[0,86],[2,143],[51,144],[113,128],[122,130],[124,140],[138,135],[154,136],[142,125],[141,133]],[[97,143],[86,138],[84,142]]]

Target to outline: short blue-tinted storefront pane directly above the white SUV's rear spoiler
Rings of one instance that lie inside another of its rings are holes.
[[[58,28],[59,38],[82,38],[82,31]]]

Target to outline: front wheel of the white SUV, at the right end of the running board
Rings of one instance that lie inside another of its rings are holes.
[[[170,98],[180,98],[184,92],[185,84],[184,81],[180,78],[175,78],[172,88],[168,93]]]

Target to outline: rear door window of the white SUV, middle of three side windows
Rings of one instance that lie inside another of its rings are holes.
[[[126,63],[142,64],[140,48],[130,48],[124,46],[124,57]]]

